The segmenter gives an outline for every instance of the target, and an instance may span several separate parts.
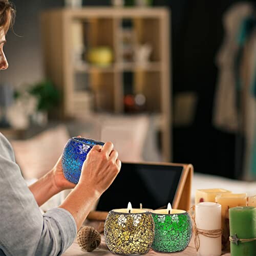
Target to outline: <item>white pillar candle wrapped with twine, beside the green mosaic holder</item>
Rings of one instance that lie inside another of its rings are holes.
[[[221,205],[218,203],[204,202],[196,205],[196,224],[198,229],[216,230],[221,229]],[[200,256],[221,255],[221,236],[218,238],[208,238],[203,234],[198,234]]]

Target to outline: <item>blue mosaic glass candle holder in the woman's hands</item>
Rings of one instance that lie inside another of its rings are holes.
[[[104,143],[78,137],[69,139],[62,156],[62,170],[67,180],[78,183],[83,162],[94,145],[103,146]]]

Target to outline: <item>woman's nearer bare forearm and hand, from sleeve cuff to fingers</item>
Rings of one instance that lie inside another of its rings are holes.
[[[74,217],[77,230],[92,209],[93,204],[111,185],[121,168],[118,153],[113,150],[113,144],[107,142],[104,146],[96,145],[87,155],[76,187],[59,206],[68,210]]]

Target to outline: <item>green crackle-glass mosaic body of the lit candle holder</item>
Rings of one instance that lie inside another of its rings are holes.
[[[184,250],[192,236],[192,223],[187,212],[182,214],[154,214],[155,239],[152,248],[160,252]]]

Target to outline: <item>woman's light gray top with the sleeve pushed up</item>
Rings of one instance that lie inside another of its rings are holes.
[[[74,241],[73,216],[62,208],[41,214],[1,133],[0,195],[0,255],[60,255]]]

